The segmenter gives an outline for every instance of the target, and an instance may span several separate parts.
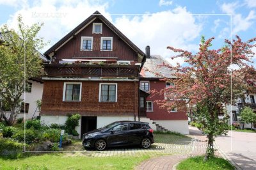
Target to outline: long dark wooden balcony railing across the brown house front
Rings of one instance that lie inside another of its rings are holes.
[[[138,78],[136,65],[44,65],[44,77],[125,77]]]

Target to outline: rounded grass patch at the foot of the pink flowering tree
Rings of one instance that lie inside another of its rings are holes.
[[[227,160],[223,158],[209,158],[204,162],[204,156],[191,157],[180,162],[177,166],[178,170],[232,170],[234,167]]]

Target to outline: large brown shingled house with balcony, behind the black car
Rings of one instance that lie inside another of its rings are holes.
[[[64,124],[81,114],[83,134],[118,120],[138,120],[145,54],[99,12],[45,52],[41,122]],[[147,119],[150,121],[149,119]]]

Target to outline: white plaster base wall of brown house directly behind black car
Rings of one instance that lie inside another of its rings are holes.
[[[104,127],[114,121],[120,120],[134,121],[134,116],[97,116],[97,128]]]

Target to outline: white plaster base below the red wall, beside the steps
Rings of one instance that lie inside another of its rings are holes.
[[[154,120],[160,126],[180,134],[189,134],[188,120]]]

